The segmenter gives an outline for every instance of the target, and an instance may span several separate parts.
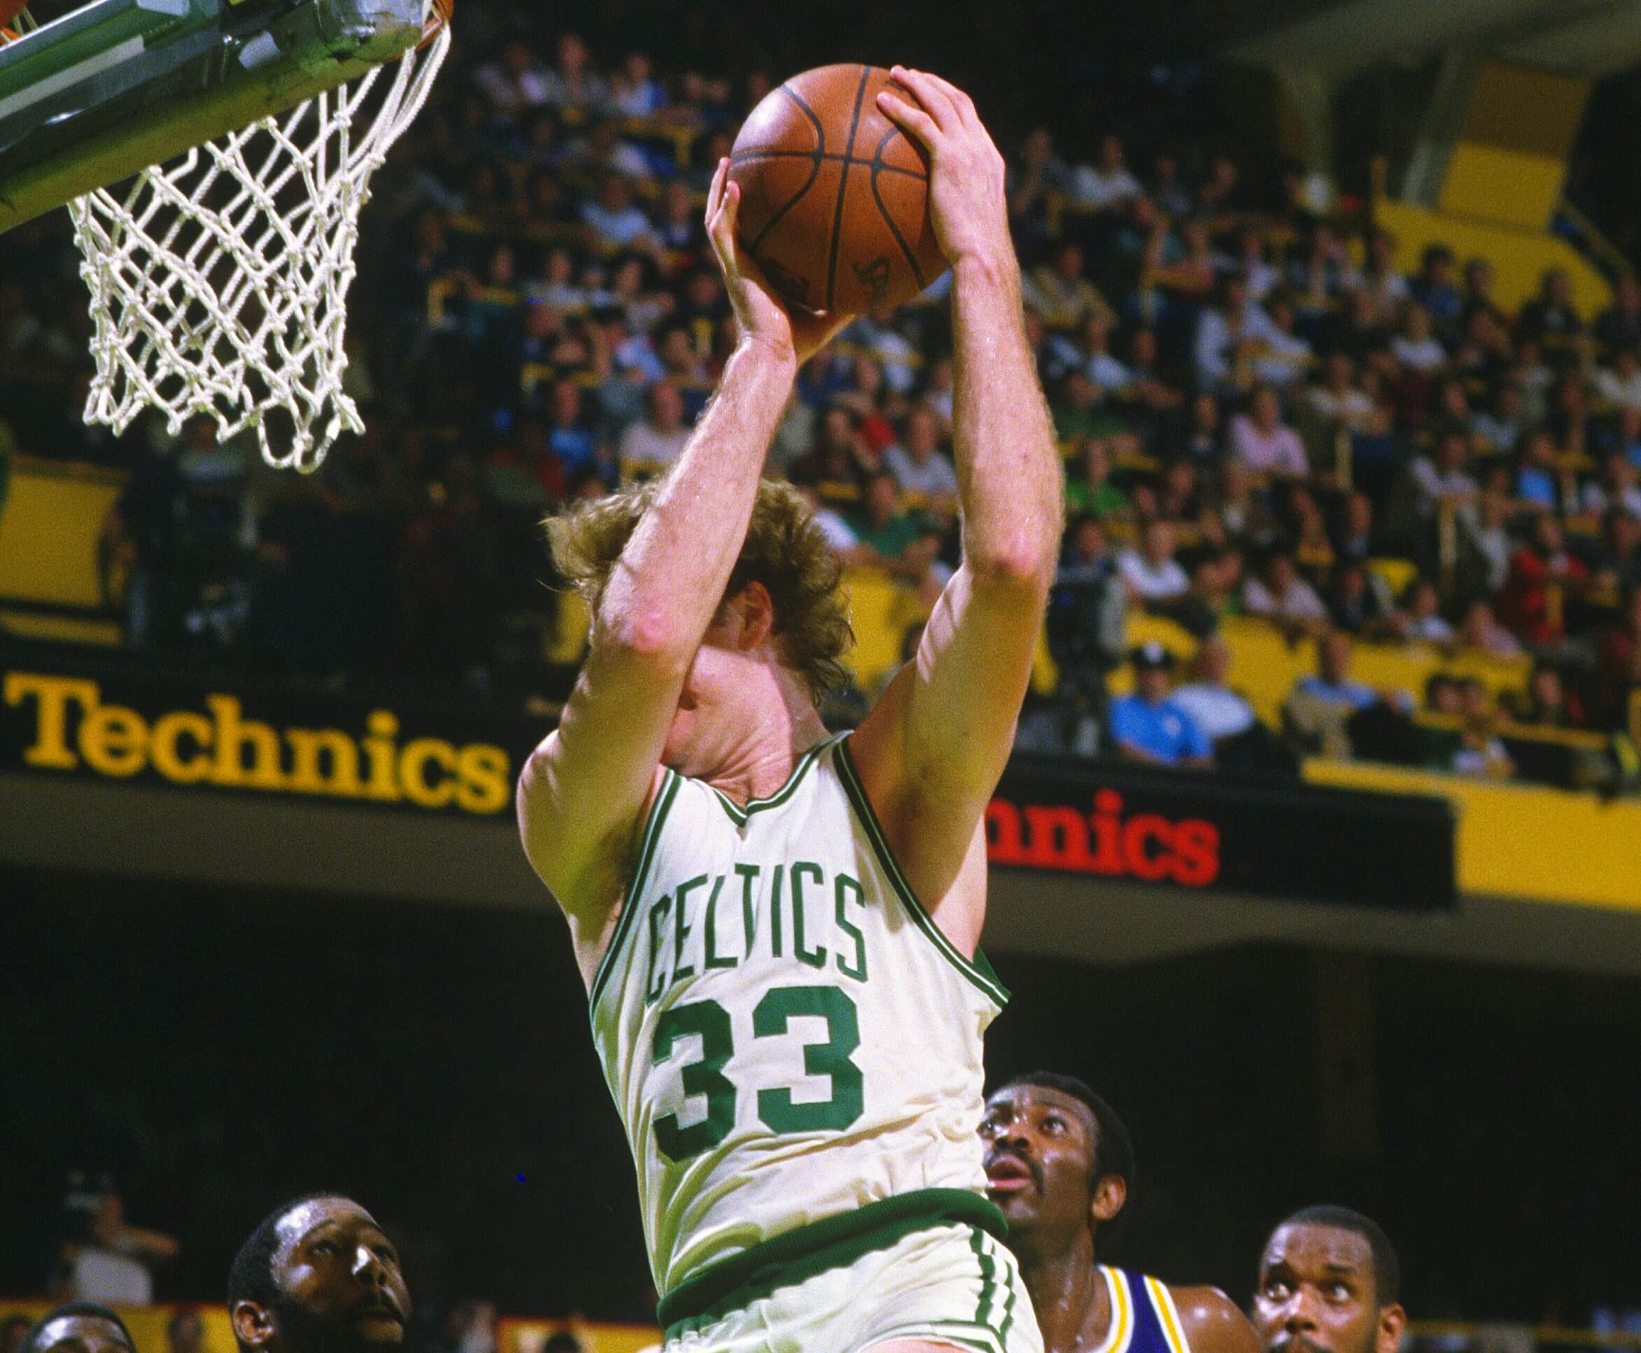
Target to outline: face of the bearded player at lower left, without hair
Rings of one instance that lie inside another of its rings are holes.
[[[325,1197],[279,1222],[274,1322],[294,1353],[369,1353],[404,1343],[410,1292],[399,1251],[363,1207]]]

